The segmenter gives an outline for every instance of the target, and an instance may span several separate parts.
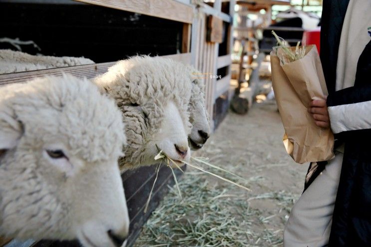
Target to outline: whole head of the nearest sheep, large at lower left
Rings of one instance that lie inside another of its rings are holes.
[[[0,235],[120,246],[124,144],[120,111],[86,79],[0,88]]]

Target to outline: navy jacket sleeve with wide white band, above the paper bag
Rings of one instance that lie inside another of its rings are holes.
[[[334,134],[371,129],[371,85],[333,92],[327,106]]]

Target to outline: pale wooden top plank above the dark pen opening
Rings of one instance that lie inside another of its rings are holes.
[[[174,0],[76,0],[151,15],[164,19],[192,23],[193,7]]]

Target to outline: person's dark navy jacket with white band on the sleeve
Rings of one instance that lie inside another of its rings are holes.
[[[345,150],[329,246],[371,247],[371,114],[366,113],[371,109],[371,42],[359,58],[355,85],[335,91],[340,35],[348,3],[323,0],[321,21],[320,56],[329,91],[328,109],[343,113],[341,121],[346,126],[335,131],[335,138],[345,144]]]

